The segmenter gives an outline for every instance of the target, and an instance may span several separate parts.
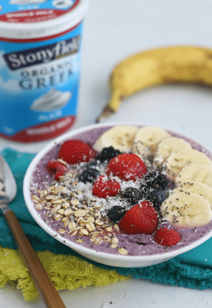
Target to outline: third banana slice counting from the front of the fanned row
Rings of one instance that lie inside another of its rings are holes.
[[[206,165],[191,164],[185,167],[175,178],[175,185],[199,181],[212,188],[212,168]]]

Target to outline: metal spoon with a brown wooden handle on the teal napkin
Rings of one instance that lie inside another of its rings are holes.
[[[46,308],[66,308],[14,212],[8,206],[17,193],[12,171],[0,155],[0,209]]]

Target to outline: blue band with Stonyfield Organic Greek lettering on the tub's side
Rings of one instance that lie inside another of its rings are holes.
[[[0,43],[0,135],[76,115],[81,32],[82,23],[47,41]]]

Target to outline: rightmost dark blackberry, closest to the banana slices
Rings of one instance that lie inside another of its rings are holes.
[[[164,190],[168,186],[168,179],[164,174],[156,171],[145,176],[145,183],[146,187]]]

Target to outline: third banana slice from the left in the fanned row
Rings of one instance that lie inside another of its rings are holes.
[[[182,138],[169,137],[160,141],[154,157],[156,166],[162,165],[163,162],[173,153],[181,150],[190,150],[191,145]]]

